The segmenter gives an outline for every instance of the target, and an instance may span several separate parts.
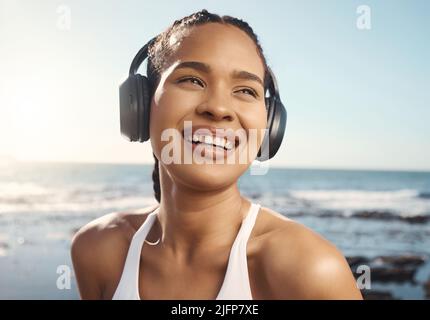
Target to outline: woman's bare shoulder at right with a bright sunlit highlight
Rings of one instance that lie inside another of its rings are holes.
[[[258,265],[274,299],[361,298],[335,245],[303,224],[261,208]]]

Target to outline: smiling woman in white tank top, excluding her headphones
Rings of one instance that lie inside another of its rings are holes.
[[[196,151],[207,142],[195,128],[258,129],[261,143],[267,70],[257,36],[232,17],[203,10],[156,38],[148,78],[159,205],[109,214],[79,230],[71,252],[83,299],[361,299],[332,244],[240,194],[238,179],[257,155],[251,140],[224,142],[221,158],[234,163],[163,159],[168,128],[183,135],[175,144],[181,157],[186,146]],[[216,148],[196,154],[214,159]],[[250,151],[245,163],[237,161],[239,149]]]

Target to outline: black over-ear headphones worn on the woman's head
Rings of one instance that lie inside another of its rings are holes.
[[[127,80],[119,87],[121,134],[130,141],[145,142],[149,139],[149,114],[151,97],[148,78],[137,72],[148,57],[148,47],[157,37],[152,38],[134,57]],[[268,68],[269,97],[265,97],[267,109],[267,129],[257,160],[265,161],[275,156],[281,146],[287,123],[287,110],[279,97],[275,76]],[[268,149],[267,149],[268,148]],[[262,153],[261,150],[264,152]]]

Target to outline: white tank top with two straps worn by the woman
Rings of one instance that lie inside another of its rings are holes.
[[[143,243],[156,219],[158,210],[159,207],[151,212],[145,222],[134,234],[128,249],[121,279],[112,300],[140,300],[140,256]],[[248,214],[245,219],[243,219],[239,232],[231,247],[227,271],[216,300],[252,300],[248,277],[246,245],[259,210],[260,204],[251,203]]]

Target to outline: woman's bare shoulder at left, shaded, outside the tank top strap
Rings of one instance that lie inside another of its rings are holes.
[[[131,239],[154,208],[109,213],[75,233],[71,257],[83,299],[103,298],[106,286],[119,282]]]

